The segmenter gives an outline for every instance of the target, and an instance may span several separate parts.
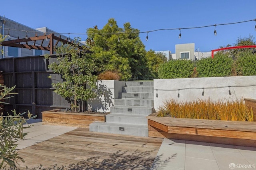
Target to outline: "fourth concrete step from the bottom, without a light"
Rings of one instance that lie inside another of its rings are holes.
[[[154,107],[153,99],[115,99],[115,106],[146,106]]]

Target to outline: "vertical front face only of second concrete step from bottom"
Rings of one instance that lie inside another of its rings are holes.
[[[146,119],[146,117],[124,117],[124,116],[117,116],[117,115],[111,115],[111,114],[106,115],[106,122],[148,125],[148,119]]]

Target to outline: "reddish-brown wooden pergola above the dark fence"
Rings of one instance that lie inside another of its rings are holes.
[[[54,40],[55,43],[54,43]],[[40,43],[36,43],[36,41],[41,41]],[[44,45],[44,41],[48,41],[48,45]],[[28,44],[28,42],[33,42],[32,45]],[[20,47],[20,48],[27,48],[27,49],[39,49],[39,50],[46,50],[50,51],[50,54],[54,53],[54,47],[58,45],[59,42],[62,42],[63,44],[71,44],[74,43],[73,41],[69,42],[68,39],[66,40],[62,39],[61,36],[57,37],[54,34],[45,34],[43,36],[34,36],[29,38],[22,38],[20,39],[18,37],[17,40],[8,40],[1,43],[3,46],[9,46],[9,47]],[[36,45],[41,44],[41,45]]]

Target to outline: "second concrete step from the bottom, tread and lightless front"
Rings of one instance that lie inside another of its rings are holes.
[[[118,113],[110,113],[106,115],[106,122],[148,125],[148,119],[146,118],[145,115],[130,115],[130,114],[118,114]]]

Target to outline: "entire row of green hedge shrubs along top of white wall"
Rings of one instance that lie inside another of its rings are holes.
[[[208,57],[199,61],[170,60],[159,66],[158,77],[174,79],[256,75],[256,54],[242,53],[236,61],[228,55],[228,53],[216,53],[213,59]]]

